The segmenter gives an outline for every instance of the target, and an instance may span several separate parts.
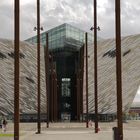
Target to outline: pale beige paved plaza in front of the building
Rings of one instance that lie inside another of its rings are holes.
[[[85,128],[85,123],[51,123],[50,128],[42,124],[41,134],[35,134],[35,123],[20,124],[20,140],[113,140],[112,127],[115,123],[100,123],[101,131]],[[1,132],[2,133],[2,132]],[[9,123],[7,134],[13,133],[13,124]],[[140,139],[140,121],[124,123],[124,140]],[[13,140],[13,137],[0,137],[0,140]]]

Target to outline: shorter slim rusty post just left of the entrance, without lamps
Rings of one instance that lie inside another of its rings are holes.
[[[46,112],[47,112],[47,128],[49,128],[49,52],[48,52],[48,33],[46,33],[45,47],[45,73],[46,73]]]

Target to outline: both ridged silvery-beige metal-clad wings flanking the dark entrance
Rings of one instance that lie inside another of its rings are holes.
[[[89,113],[94,113],[93,45],[89,45]],[[0,39],[0,113],[10,114],[14,109],[14,46]],[[115,40],[98,42],[99,113],[116,113],[116,59]],[[36,45],[20,44],[20,113],[37,110],[37,53]],[[128,111],[140,85],[140,35],[122,38],[123,110]],[[85,81],[85,80],[84,80]],[[85,89],[85,83],[84,83]],[[85,90],[84,93],[85,95]],[[85,96],[83,98],[86,111]],[[41,111],[46,112],[44,50],[41,48]]]

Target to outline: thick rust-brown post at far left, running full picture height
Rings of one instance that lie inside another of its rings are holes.
[[[20,45],[20,1],[15,0],[14,23],[14,140],[19,140],[19,45]]]

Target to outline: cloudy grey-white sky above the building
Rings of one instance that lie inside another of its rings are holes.
[[[20,38],[36,35],[36,1],[20,0]],[[93,25],[93,0],[40,0],[44,31],[63,23],[90,32]],[[115,36],[115,0],[97,0],[98,36]],[[121,0],[122,36],[140,34],[140,0]],[[0,38],[14,38],[14,0],[0,0]],[[140,101],[140,90],[136,101]]]

